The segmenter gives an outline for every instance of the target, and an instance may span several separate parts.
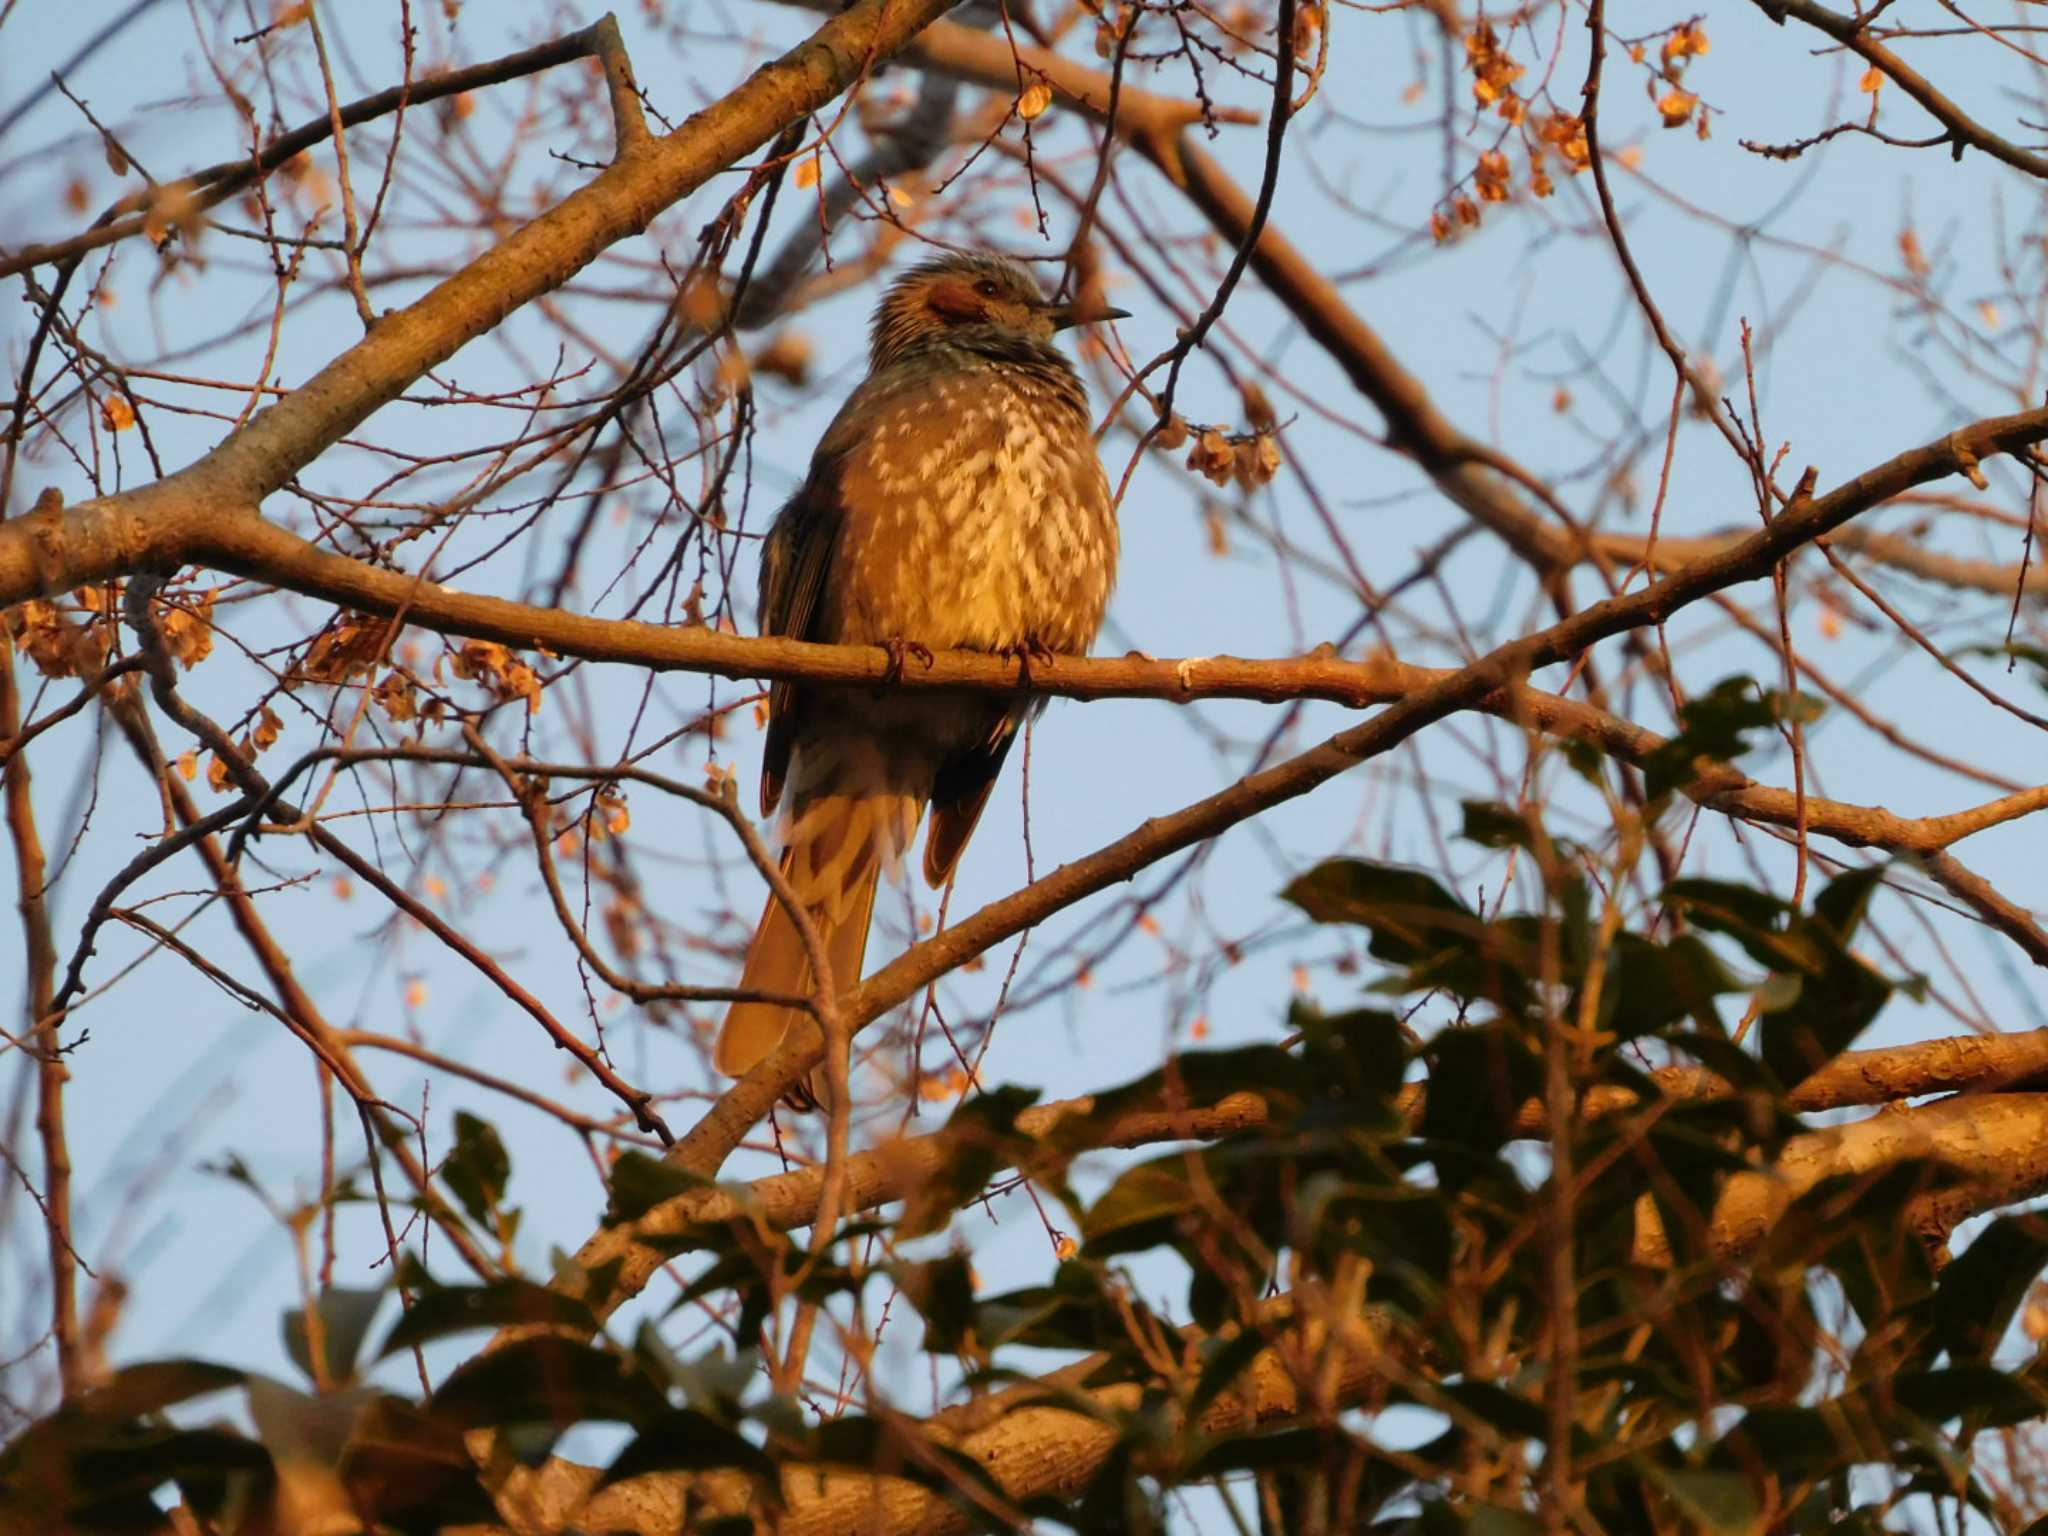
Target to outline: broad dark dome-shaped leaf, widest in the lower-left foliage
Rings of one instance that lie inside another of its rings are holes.
[[[440,1384],[434,1417],[459,1430],[588,1419],[651,1423],[668,1397],[608,1350],[537,1335],[477,1356]]]

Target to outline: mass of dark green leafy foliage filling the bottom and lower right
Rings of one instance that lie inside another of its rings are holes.
[[[1688,711],[1669,772],[1733,756],[1774,719],[1767,696],[1716,690]],[[2048,1374],[2011,1366],[2007,1348],[2048,1268],[2048,1221],[2003,1217],[1939,1268],[1911,1212],[1954,1180],[1903,1159],[1812,1182],[1761,1233],[1724,1225],[1731,1180],[1755,1184],[1812,1128],[1786,1092],[1896,989],[1851,948],[1880,870],[1835,877],[1804,911],[1683,879],[1614,924],[1585,850],[1485,803],[1466,807],[1464,836],[1538,874],[1544,905],[1468,905],[1417,870],[1329,860],[1286,897],[1358,930],[1358,1006],[1294,999],[1284,1042],[1180,1055],[1038,1137],[1018,1128],[1032,1090],[975,1096],[893,1219],[856,1212],[823,1247],[772,1229],[735,1186],[741,1217],[664,1239],[686,1266],[682,1298],[631,1348],[588,1341],[590,1307],[547,1286],[440,1286],[408,1260],[410,1307],[381,1358],[530,1331],[424,1405],[362,1386],[250,1397],[340,1446],[352,1507],[389,1530],[489,1516],[467,1432],[496,1430],[535,1460],[578,1423],[631,1432],[604,1481],[690,1475],[774,1511],[805,1468],[889,1468],[1006,1528],[993,1462],[958,1440],[860,1397],[821,1417],[815,1395],[766,1386],[762,1346],[782,1346],[799,1305],[834,1319],[858,1305],[934,1370],[965,1372],[977,1413],[1053,1405],[1087,1425],[1094,1458],[1008,1507],[1090,1536],[1174,1530],[1176,1491],[1194,1485],[1227,1489],[1272,1532],[1520,1536],[1546,1528],[1559,1466],[1575,1524],[1610,1532],[1862,1534],[1894,1528],[1909,1495],[1952,1524],[1995,1511],[1972,1442],[2048,1411]],[[1747,1040],[1722,1016],[1731,993],[1735,1014],[1743,993],[1759,999]],[[1395,999],[1407,1012],[1364,1006]],[[1264,1118],[1124,1155],[1100,1186],[1075,1176],[1133,1116],[1235,1094],[1255,1094]],[[1559,1157],[1575,1169],[1565,1190]],[[459,1122],[444,1178],[500,1233],[508,1176],[489,1126]],[[1010,1176],[1065,1208],[1079,1249],[1038,1284],[981,1292],[958,1212]],[[700,1188],[627,1153],[610,1219]],[[950,1249],[918,1241],[944,1231]],[[1161,1266],[1184,1290],[1159,1284]],[[596,1296],[612,1284],[563,1276]],[[330,1382],[352,1376],[377,1300],[322,1296]],[[678,1358],[678,1319],[694,1329],[705,1309],[729,1341]],[[1049,1360],[1085,1364],[1055,1376]],[[174,1481],[221,1530],[258,1530],[279,1444],[168,1413],[240,1382],[182,1362],[123,1372],[0,1454],[0,1499],[141,1528]],[[1561,1409],[1571,1430],[1554,1444]],[[340,1438],[336,1411],[352,1415]],[[684,1524],[727,1528],[698,1491]]]

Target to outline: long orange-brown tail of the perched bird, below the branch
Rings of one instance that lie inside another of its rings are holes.
[[[874,887],[885,870],[901,864],[930,784],[903,782],[901,764],[889,764],[868,741],[807,743],[791,772],[791,817],[782,838],[782,877],[817,928],[831,985],[844,991],[860,981],[868,950]],[[782,903],[768,895],[748,963],[739,975],[748,991],[807,997],[817,989],[803,934]],[[791,1028],[815,1028],[809,1014],[776,1004],[733,1004],[719,1030],[715,1061],[727,1075],[745,1073]],[[823,1071],[813,1073],[811,1098],[823,1102]]]

